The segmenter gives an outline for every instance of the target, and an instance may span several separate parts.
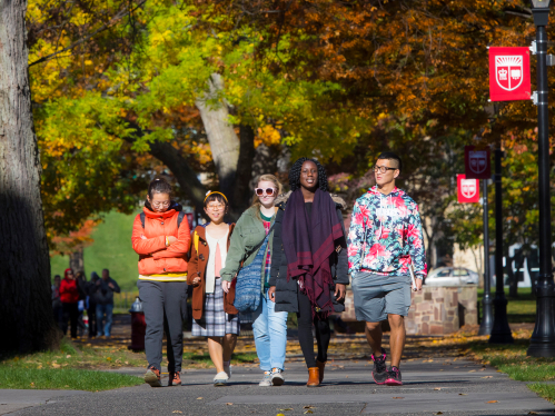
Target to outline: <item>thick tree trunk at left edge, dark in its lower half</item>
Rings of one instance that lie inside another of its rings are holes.
[[[0,350],[58,339],[29,87],[27,0],[0,0]]]

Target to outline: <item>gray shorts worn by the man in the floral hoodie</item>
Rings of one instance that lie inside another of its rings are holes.
[[[359,271],[353,277],[357,320],[379,323],[388,314],[407,316],[410,308],[410,277],[384,277]]]

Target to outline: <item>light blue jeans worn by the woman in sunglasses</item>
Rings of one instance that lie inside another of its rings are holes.
[[[252,313],[256,354],[260,369],[285,368],[285,347],[287,344],[287,313],[275,311],[276,304],[268,298],[265,289],[260,306]]]

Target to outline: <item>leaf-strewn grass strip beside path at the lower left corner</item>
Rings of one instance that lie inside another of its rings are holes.
[[[66,339],[58,350],[0,358],[0,388],[97,392],[136,386],[141,378],[91,368],[145,365],[142,354],[123,348],[77,348]]]

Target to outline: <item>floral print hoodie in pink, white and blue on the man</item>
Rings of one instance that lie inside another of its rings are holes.
[[[349,273],[368,271],[381,276],[427,275],[424,237],[418,205],[404,190],[389,195],[377,186],[358,198],[353,209],[348,236]]]

